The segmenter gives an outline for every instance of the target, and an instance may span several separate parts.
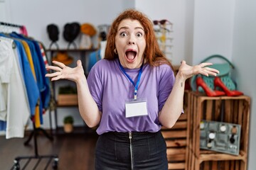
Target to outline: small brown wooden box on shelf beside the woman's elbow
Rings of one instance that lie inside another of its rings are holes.
[[[75,106],[78,105],[77,94],[59,94],[58,106]]]

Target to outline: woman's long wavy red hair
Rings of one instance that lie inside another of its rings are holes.
[[[117,18],[113,21],[110,28],[110,33],[107,37],[107,46],[104,58],[107,60],[114,60],[114,58],[118,57],[118,55],[114,53],[114,40],[115,36],[117,35],[117,28],[119,26],[119,23],[127,18],[139,21],[139,23],[141,23],[144,28],[146,40],[144,59],[146,59],[146,62],[148,62],[151,66],[158,66],[159,64],[169,64],[171,66],[171,62],[166,59],[164,53],[160,50],[154,33],[153,23],[142,12],[139,12],[135,9],[127,9],[119,16],[117,16]],[[171,66],[171,68],[173,67]]]

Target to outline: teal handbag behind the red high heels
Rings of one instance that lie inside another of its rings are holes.
[[[213,58],[219,58],[221,60],[224,61],[224,63],[217,63],[217,64],[213,64],[210,65],[208,67],[213,68],[213,69],[218,69],[218,71],[220,72],[219,74],[217,74],[218,77],[220,77],[221,81],[223,81],[223,84],[225,84],[225,86],[233,91],[236,89],[236,84],[233,81],[233,79],[231,79],[230,77],[230,70],[235,69],[234,65],[225,57],[221,56],[221,55],[211,55],[210,57],[207,57],[205,60],[203,60],[202,62],[207,62],[208,60],[211,60]],[[201,62],[201,63],[202,63]],[[196,86],[196,77],[201,76],[203,78],[203,81],[206,82],[206,84],[208,85],[208,87],[210,87],[210,89],[214,89],[214,76],[209,75],[209,77],[206,77],[204,75],[196,75],[191,77],[191,89],[192,91],[196,91],[197,86]],[[218,89],[218,88],[217,88]],[[218,89],[220,90],[220,89]],[[203,92],[203,89],[201,87],[198,88],[198,91]]]

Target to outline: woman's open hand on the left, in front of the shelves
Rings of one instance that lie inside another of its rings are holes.
[[[62,62],[53,61],[55,66],[46,66],[46,69],[52,69],[53,73],[46,74],[46,77],[51,77],[51,81],[58,79],[68,79],[78,82],[79,79],[85,77],[84,70],[82,68],[81,60],[77,61],[77,67],[71,68],[63,64]]]

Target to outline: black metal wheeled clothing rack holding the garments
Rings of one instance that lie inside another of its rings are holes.
[[[0,22],[0,26],[7,26],[7,27],[10,27],[10,28],[25,28],[24,26],[21,26],[21,25],[17,25],[17,24],[14,24],[14,23],[5,23],[5,22]],[[1,32],[1,30],[0,30],[0,32]],[[51,129],[52,128],[51,128],[51,117],[50,117],[50,130]],[[48,135],[46,130],[43,130],[43,128],[36,128],[36,125],[33,122],[33,131],[29,135],[28,140],[26,140],[26,142],[24,142],[24,145],[28,145],[30,140],[33,137],[35,155],[33,155],[33,156],[18,156],[18,157],[16,157],[14,159],[14,166],[12,166],[11,169],[15,169],[15,170],[21,169],[21,166],[19,164],[21,159],[27,159],[27,162],[26,162],[26,164],[24,164],[22,169],[26,169],[26,166],[28,166],[29,162],[31,162],[31,159],[37,159],[38,160],[36,162],[35,166],[33,167],[33,169],[36,169],[36,167],[38,166],[38,164],[41,162],[42,159],[48,159],[48,162],[46,164],[45,169],[48,168],[48,166],[49,166],[49,164],[50,164],[50,162],[52,160],[53,160],[53,164],[52,164],[53,169],[58,169],[58,155],[57,154],[50,154],[50,155],[39,155],[38,154],[38,143],[37,143],[38,132],[43,132],[43,134],[46,135],[46,137],[49,140],[51,140],[51,141],[53,140],[52,134]]]

